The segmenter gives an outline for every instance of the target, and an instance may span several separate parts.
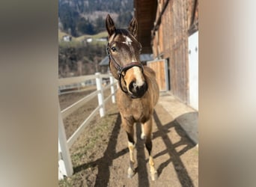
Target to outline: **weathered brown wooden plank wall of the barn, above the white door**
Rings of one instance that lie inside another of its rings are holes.
[[[156,20],[167,1],[158,1]],[[198,0],[169,0],[151,41],[154,58],[169,61],[171,92],[186,103],[189,102],[188,37],[196,30]]]

